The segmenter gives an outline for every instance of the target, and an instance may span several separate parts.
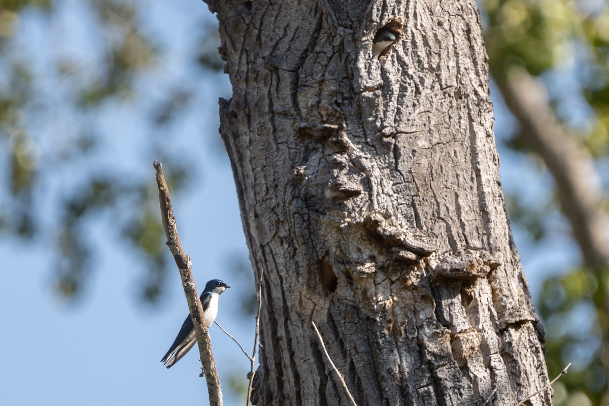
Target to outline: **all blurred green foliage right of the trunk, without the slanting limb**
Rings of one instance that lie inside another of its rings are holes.
[[[482,0],[480,5],[493,79],[505,80],[515,65],[539,77],[566,130],[597,163],[607,163],[609,4],[602,0]],[[535,153],[519,130],[504,144],[519,153]],[[600,175],[606,187],[609,173]],[[558,199],[537,206],[521,200],[507,196],[512,222],[522,226],[534,242],[552,239],[556,230],[549,219],[560,210]],[[609,354],[608,266],[577,267],[552,276],[537,300],[546,328],[549,375],[557,376],[573,363],[560,379],[557,405],[609,405],[609,359],[603,359],[603,354]]]

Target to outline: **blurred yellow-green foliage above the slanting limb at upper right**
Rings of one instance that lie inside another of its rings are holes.
[[[513,65],[538,75],[546,82],[552,96],[550,102],[566,127],[583,139],[593,156],[607,158],[607,2],[483,0],[481,6],[493,78],[504,80]],[[510,142],[526,148],[518,142],[521,136]]]

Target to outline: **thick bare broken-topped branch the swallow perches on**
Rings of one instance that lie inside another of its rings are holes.
[[[192,278],[191,259],[186,255],[180,242],[180,236],[178,236],[174,211],[171,208],[169,188],[163,175],[163,166],[157,161],[154,161],[153,166],[157,170],[158,198],[161,204],[161,219],[163,219],[163,228],[167,236],[167,246],[174,256],[175,264],[178,265],[192,323],[194,324],[195,331],[197,331],[199,353],[209,391],[209,404],[222,406],[222,389],[220,388],[214,355],[211,352],[211,341],[209,341],[207,326],[201,322],[203,320],[203,307],[201,306],[194,278]]]

